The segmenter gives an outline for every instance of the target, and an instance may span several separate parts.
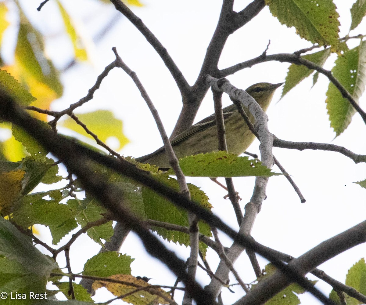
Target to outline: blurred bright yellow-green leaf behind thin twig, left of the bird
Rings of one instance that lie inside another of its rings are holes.
[[[97,110],[90,113],[78,114],[78,118],[91,132],[96,134],[102,142],[105,143],[109,137],[116,137],[116,139],[119,140],[119,147],[117,150],[120,150],[129,142],[123,134],[122,121],[115,118],[111,111]],[[61,125],[85,135],[85,130],[80,125],[76,124],[72,118],[63,121]],[[93,138],[90,135],[87,136]]]

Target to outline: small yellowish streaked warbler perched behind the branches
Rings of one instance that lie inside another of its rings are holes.
[[[267,110],[272,100],[273,93],[280,87],[279,84],[259,82],[251,85],[245,91],[254,98],[264,111]],[[243,106],[249,120],[254,124],[254,117],[249,110]],[[243,120],[235,104],[223,109],[224,124],[226,130],[226,143],[228,152],[236,155],[242,154],[253,142],[254,135],[251,133],[246,122]],[[171,140],[173,150],[177,158],[201,154],[202,152],[218,151],[217,128],[215,114],[199,121],[186,129]],[[143,157],[136,158],[136,161],[150,163],[160,168],[169,168],[169,160],[165,154],[164,147]]]

